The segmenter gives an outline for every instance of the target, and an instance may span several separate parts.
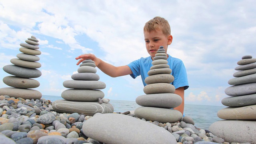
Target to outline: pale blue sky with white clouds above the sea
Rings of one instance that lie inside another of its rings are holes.
[[[189,88],[185,104],[223,106],[237,62],[256,57],[254,0],[0,0],[0,88],[9,87],[2,69],[12,64],[20,43],[39,40],[43,95],[61,96],[63,82],[79,66],[75,58],[92,53],[114,66],[147,57],[144,24],[161,16],[168,20],[173,41],[167,53],[186,67]],[[112,78],[97,68],[102,90],[110,100],[135,101],[144,95],[142,80]]]

